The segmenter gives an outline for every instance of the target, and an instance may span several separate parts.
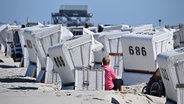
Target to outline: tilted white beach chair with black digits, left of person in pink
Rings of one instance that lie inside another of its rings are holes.
[[[87,74],[81,73],[80,71],[80,69],[84,71],[85,68],[88,68],[88,72],[91,73],[89,76],[95,72],[90,68],[94,64],[93,51],[99,48],[94,46],[95,44],[99,46],[99,43],[95,42],[92,35],[81,35],[49,48],[49,56],[54,66],[56,66],[55,69],[59,72],[63,86],[75,86],[76,90],[82,90],[85,85],[87,88],[84,89],[94,90],[97,88],[94,87],[97,84],[93,83],[95,78],[89,77],[89,80],[83,80],[81,76]],[[99,77],[99,80],[102,80],[102,82],[104,82],[103,75],[104,74],[101,74],[101,77]],[[91,80],[93,80],[93,82],[91,82]],[[103,83],[99,85],[103,86],[100,87],[100,89],[104,89]]]

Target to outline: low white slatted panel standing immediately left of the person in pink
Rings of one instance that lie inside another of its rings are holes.
[[[103,69],[75,69],[75,90],[104,90],[104,75]]]

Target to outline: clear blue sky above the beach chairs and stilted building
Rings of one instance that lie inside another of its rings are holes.
[[[184,0],[0,0],[0,22],[50,22],[60,5],[88,5],[94,24],[184,24]]]

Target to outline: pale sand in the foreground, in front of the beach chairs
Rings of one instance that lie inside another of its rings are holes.
[[[165,104],[165,97],[141,94],[145,83],[124,86],[119,91],[60,90],[55,84],[25,77],[26,68],[0,52],[1,104]]]

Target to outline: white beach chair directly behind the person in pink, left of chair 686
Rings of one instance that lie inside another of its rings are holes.
[[[123,73],[123,52],[121,37],[129,33],[129,31],[122,32],[120,30],[113,30],[94,34],[94,38],[104,45],[101,51],[94,53],[95,63],[101,65],[102,58],[109,55],[111,60],[110,66],[114,69],[114,72],[118,78],[122,78]]]

